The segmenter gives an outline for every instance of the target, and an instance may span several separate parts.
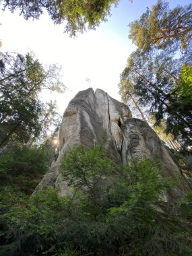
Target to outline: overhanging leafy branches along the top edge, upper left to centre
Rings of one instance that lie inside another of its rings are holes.
[[[3,9],[8,8],[11,12],[20,10],[24,18],[38,19],[46,10],[55,24],[65,22],[64,32],[75,36],[77,32],[84,32],[86,27],[95,29],[102,21],[106,21],[106,15],[110,15],[111,5],[118,0],[67,0],[67,1],[20,1],[3,0]]]

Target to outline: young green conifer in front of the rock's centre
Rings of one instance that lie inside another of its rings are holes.
[[[75,162],[74,162],[75,160]],[[113,162],[107,156],[102,146],[85,148],[77,146],[70,150],[61,162],[61,173],[69,187],[73,187],[75,193],[80,193],[84,199],[84,206],[88,207],[88,215],[95,219],[102,212],[107,193],[106,177],[113,174]],[[88,197],[84,197],[85,191]]]

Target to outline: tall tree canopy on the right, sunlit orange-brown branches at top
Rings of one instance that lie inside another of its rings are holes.
[[[125,102],[137,97],[155,125],[191,146],[191,27],[192,5],[168,8],[159,0],[139,20],[129,24],[129,38],[137,45],[121,73],[120,93]]]

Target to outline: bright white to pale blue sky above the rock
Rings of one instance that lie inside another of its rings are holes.
[[[189,0],[170,0],[170,7],[191,3]],[[120,73],[125,68],[127,57],[135,46],[128,38],[129,22],[137,20],[146,7],[156,0],[119,1],[111,8],[107,22],[96,30],[70,38],[63,33],[63,25],[54,25],[47,13],[39,20],[24,20],[18,12],[0,11],[1,52],[16,51],[25,54],[34,52],[42,64],[57,63],[62,66],[62,82],[68,88],[64,94],[43,92],[44,101],[56,100],[62,115],[69,101],[80,90],[100,88],[117,100]],[[90,79],[90,84],[86,78]]]

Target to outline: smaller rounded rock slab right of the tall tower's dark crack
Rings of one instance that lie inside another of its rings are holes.
[[[172,177],[179,182],[164,199],[168,201],[185,195],[186,183],[181,171],[150,125],[140,119],[129,118],[121,126],[121,131],[123,164],[129,164],[135,157],[155,160],[160,164],[162,177]]]

